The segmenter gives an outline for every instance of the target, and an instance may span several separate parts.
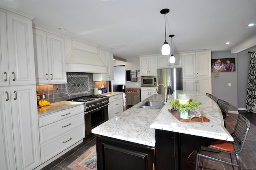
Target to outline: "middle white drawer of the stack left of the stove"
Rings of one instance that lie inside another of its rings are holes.
[[[43,126],[40,128],[40,144],[68,132],[81,124],[84,125],[84,112]]]

